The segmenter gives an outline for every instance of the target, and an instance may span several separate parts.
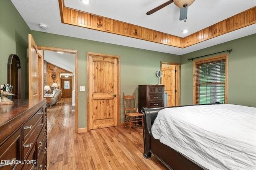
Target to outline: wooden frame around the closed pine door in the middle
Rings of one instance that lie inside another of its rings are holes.
[[[92,101],[92,82],[90,81],[90,77],[94,76],[92,72],[90,72],[90,56],[103,56],[103,57],[112,57],[117,59],[117,92],[116,92],[116,98],[117,98],[117,125],[120,125],[120,56],[118,55],[108,55],[108,54],[102,54],[102,53],[94,53],[94,52],[87,52],[87,131],[90,131],[90,104]]]

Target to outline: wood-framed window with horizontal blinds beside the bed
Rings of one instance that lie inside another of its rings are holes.
[[[228,55],[194,61],[194,104],[227,103]]]

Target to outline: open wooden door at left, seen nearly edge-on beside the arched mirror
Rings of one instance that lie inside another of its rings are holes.
[[[28,98],[38,100],[39,79],[38,79],[38,47],[31,34],[28,34]]]

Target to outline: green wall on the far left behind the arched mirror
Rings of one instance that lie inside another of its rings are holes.
[[[11,54],[21,62],[21,98],[28,97],[27,49],[30,29],[10,0],[0,0],[0,85],[7,83],[7,64]]]

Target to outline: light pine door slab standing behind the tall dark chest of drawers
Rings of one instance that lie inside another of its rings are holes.
[[[167,106],[176,106],[176,65],[170,65],[162,68],[162,84],[167,92]]]

